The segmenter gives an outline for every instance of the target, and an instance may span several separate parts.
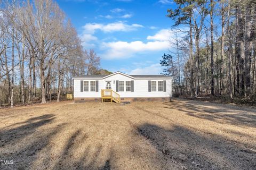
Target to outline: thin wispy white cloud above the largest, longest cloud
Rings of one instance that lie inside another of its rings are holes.
[[[93,34],[95,30],[101,30],[103,32],[114,32],[114,31],[133,31],[138,28],[142,28],[140,24],[126,24],[122,21],[102,24],[102,23],[87,23],[83,26],[84,32]]]

